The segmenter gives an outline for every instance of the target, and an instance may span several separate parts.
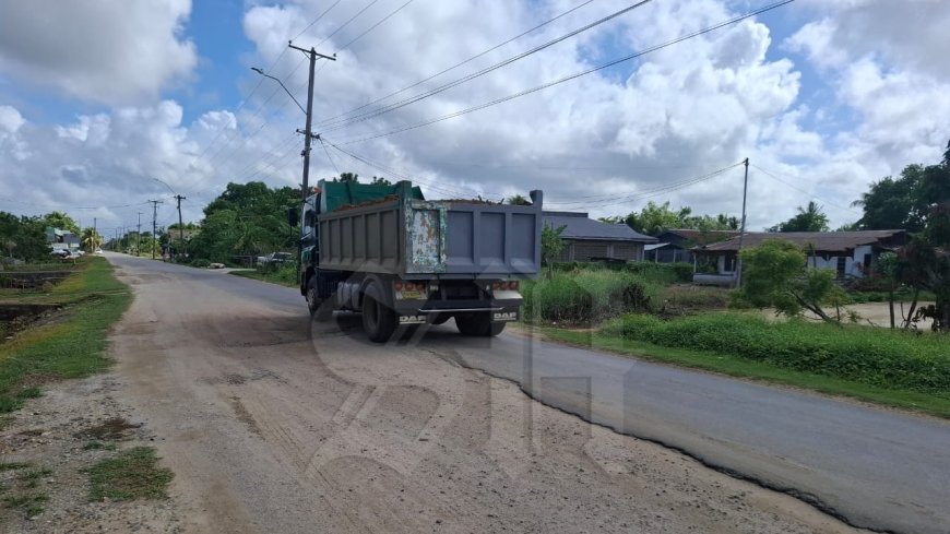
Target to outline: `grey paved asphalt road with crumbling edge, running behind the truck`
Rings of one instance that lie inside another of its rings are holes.
[[[299,294],[214,271],[109,256],[118,266],[201,283],[299,313]],[[354,317],[321,335],[370,344]],[[312,330],[311,330],[312,332]],[[328,337],[329,339],[329,337]],[[397,344],[516,382],[534,399],[706,465],[795,495],[846,522],[901,533],[950,532],[950,423],[506,333],[458,335],[451,322]],[[368,348],[367,348],[368,349]],[[527,432],[531,417],[524,418]]]

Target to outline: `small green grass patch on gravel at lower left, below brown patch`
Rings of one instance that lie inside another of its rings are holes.
[[[87,470],[92,488],[90,500],[164,499],[175,476],[158,467],[158,456],[151,447],[135,447],[116,458],[103,460]]]

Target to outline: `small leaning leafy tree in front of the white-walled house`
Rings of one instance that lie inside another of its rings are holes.
[[[798,317],[811,311],[823,321],[840,322],[824,306],[840,306],[843,290],[834,284],[835,272],[809,269],[807,256],[785,239],[765,239],[758,247],[743,250],[743,286],[736,299],[757,308],[774,307],[777,313]]]

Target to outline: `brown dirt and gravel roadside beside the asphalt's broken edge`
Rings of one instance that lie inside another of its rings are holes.
[[[119,273],[136,298],[114,372],[26,411],[142,424],[135,438],[176,473],[171,498],[23,532],[130,532],[129,518],[140,532],[856,532],[508,381],[369,344],[352,321],[311,327],[200,281]]]

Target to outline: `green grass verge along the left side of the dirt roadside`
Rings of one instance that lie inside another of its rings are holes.
[[[132,300],[103,258],[55,286],[43,300],[64,306],[63,316],[27,329],[0,345],[0,414],[19,410],[39,393],[38,384],[105,370],[108,329]],[[26,384],[26,385],[24,385]]]

